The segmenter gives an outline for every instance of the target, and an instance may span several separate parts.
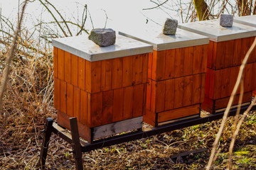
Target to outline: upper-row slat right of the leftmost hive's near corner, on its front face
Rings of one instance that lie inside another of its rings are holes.
[[[91,62],[91,93],[100,92],[101,88],[101,61]]]

